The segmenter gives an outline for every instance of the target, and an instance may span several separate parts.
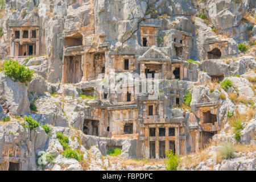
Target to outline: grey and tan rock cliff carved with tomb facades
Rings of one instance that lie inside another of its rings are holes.
[[[129,158],[169,150],[192,154],[181,169],[252,169],[254,1],[0,0],[0,8],[0,120],[11,120],[0,122],[0,169],[163,169]],[[6,76],[4,59],[34,70],[32,81]],[[24,127],[26,115],[40,126]],[[63,156],[58,132],[80,162]],[[225,141],[232,160],[205,155]],[[107,155],[113,148],[120,158]],[[42,165],[42,155],[54,159]]]

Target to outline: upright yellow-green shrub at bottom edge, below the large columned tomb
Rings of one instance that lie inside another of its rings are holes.
[[[179,166],[180,162],[180,155],[174,154],[172,150],[166,151],[167,159],[164,159],[166,163],[166,170],[167,171],[177,171],[177,167]]]

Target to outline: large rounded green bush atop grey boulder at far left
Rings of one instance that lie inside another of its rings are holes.
[[[20,65],[17,61],[6,60],[3,63],[3,68],[5,68],[5,75],[13,77],[14,81],[27,82],[32,80],[34,71],[25,68],[24,65]]]

